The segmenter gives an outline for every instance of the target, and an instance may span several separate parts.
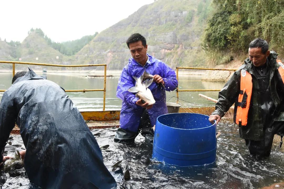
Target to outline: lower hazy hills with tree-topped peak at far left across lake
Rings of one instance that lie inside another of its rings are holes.
[[[32,28],[22,43],[0,39],[0,60],[19,61],[21,58],[21,61],[25,62],[72,64],[73,55],[96,35],[97,32],[81,39],[56,43],[51,41],[40,28]],[[12,65],[0,64],[0,68],[10,67]],[[17,65],[17,67],[23,67],[23,65]]]

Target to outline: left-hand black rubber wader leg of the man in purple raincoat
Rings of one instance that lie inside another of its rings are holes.
[[[122,144],[134,143],[138,134],[139,132],[133,132],[119,127],[115,133],[114,142]]]

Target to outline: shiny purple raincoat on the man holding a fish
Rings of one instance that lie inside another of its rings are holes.
[[[148,61],[144,67],[137,63],[133,58],[129,59],[122,70],[116,90],[116,96],[122,99],[120,127],[133,132],[138,130],[143,108],[135,104],[136,101],[139,100],[139,98],[135,96],[135,93],[128,92],[128,89],[135,85],[135,80],[132,76],[140,77],[146,69],[149,74],[157,74],[163,78],[165,82],[164,86],[167,91],[173,91],[178,87],[175,71],[168,67],[164,62],[149,54],[147,55]],[[158,116],[168,113],[166,106],[166,91],[164,88],[158,87],[156,82],[153,82],[148,88],[151,90],[156,101],[153,107],[148,110],[151,125],[154,126]]]

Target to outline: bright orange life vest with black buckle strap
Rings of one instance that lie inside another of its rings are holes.
[[[284,83],[284,65],[281,62],[281,60],[277,60],[277,63],[280,65],[278,71]],[[242,69],[240,94],[238,102],[235,103],[235,105],[237,106],[236,124],[238,124],[239,126],[247,125],[251,95],[252,95],[252,77],[249,72]]]

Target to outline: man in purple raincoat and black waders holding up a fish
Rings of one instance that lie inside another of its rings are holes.
[[[146,39],[139,33],[132,34],[126,41],[132,58],[123,68],[116,96],[122,99],[120,112],[120,127],[116,131],[114,141],[117,143],[133,143],[141,131],[147,144],[153,145],[154,131],[152,127],[158,116],[167,114],[166,91],[173,91],[178,87],[176,73],[164,62],[147,54]],[[133,76],[140,77],[144,71],[154,76],[154,82],[148,87],[156,101],[153,105],[143,102],[128,91],[135,86]],[[162,83],[162,85],[158,85]]]

